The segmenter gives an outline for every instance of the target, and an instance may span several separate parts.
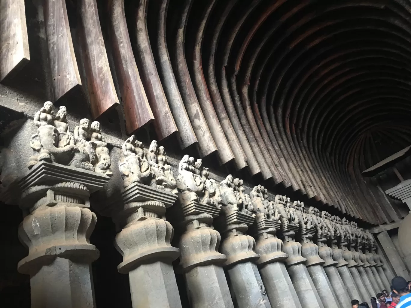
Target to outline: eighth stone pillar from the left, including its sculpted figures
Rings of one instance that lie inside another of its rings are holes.
[[[336,264],[338,262],[332,259],[332,248],[327,244],[327,241],[330,241],[331,243],[334,241],[334,228],[332,228],[327,219],[330,217],[330,214],[323,211],[320,216],[319,210],[315,207],[310,207],[308,212],[312,215],[316,225],[317,232],[314,239],[319,248],[319,257],[325,261],[323,268],[327,274],[332,289],[334,290],[335,297],[337,298],[340,307],[349,307],[351,301],[337,270]]]

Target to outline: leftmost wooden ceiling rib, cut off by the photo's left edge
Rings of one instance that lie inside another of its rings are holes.
[[[28,61],[24,0],[0,0],[0,81],[16,74]]]

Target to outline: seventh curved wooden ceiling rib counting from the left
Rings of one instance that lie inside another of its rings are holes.
[[[210,129],[205,122],[203,111],[201,111],[199,101],[194,91],[193,84],[190,79],[190,74],[185,60],[185,26],[187,22],[187,15],[191,8],[191,1],[186,0],[182,5],[182,10],[179,11],[178,25],[174,37],[174,51],[173,51],[173,68],[177,79],[178,87],[180,88],[181,97],[184,101],[187,114],[196,133],[199,141],[199,154],[201,157],[207,156],[217,151],[217,146],[211,136]]]

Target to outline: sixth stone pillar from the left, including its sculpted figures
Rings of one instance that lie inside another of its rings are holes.
[[[289,272],[302,307],[323,308],[323,302],[321,301],[316,286],[305,266],[307,258],[302,256],[301,244],[295,240],[296,232],[300,229],[298,213],[296,209],[291,207],[289,198],[283,196],[282,199],[282,202],[276,200],[276,205],[282,217],[280,236],[284,242],[284,253],[288,255],[288,258],[285,260],[287,271]]]

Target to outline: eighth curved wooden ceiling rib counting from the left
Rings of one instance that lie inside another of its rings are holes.
[[[204,74],[203,74],[203,67],[201,62],[201,44],[203,42],[203,35],[205,25],[208,21],[208,16],[210,15],[210,11],[215,4],[215,0],[210,1],[206,6],[202,13],[201,18],[199,19],[199,25],[195,27],[197,30],[195,32],[195,37],[193,38],[194,46],[192,48],[192,61],[191,63],[191,76],[193,79],[194,89],[197,94],[197,98],[199,99],[199,103],[201,109],[203,110],[203,114],[205,120],[208,124],[208,128],[210,129],[212,138],[214,139],[215,144],[217,145],[218,149],[218,157],[220,163],[224,164],[232,159],[235,158],[230,143],[227,141],[226,135],[224,135],[224,131],[222,126],[219,122],[217,114],[215,113],[214,107],[212,106],[210,94],[208,93],[207,84],[205,83]],[[187,41],[189,41],[188,39]],[[226,128],[231,128],[231,130],[226,131],[228,138],[236,138],[234,131],[231,126]],[[237,146],[236,144],[233,144]],[[236,147],[237,149],[237,147]]]

